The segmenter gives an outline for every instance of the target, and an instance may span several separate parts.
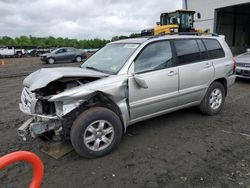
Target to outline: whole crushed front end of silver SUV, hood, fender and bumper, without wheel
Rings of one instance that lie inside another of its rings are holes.
[[[18,128],[24,140],[29,135],[69,140],[76,117],[95,105],[115,110],[124,126],[128,122],[127,75],[109,76],[82,68],[50,68],[30,74],[23,85],[19,108],[31,116]]]

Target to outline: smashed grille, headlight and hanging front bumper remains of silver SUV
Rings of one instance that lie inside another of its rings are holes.
[[[54,131],[56,134],[62,130],[63,117],[69,112],[77,108],[83,100],[78,101],[64,101],[64,102],[48,102],[37,99],[35,94],[24,87],[21,95],[21,103],[19,109],[23,113],[32,116],[18,129],[18,135],[26,140],[29,135],[35,138],[43,133]],[[47,105],[48,108],[44,107]],[[49,105],[49,106],[48,106]],[[47,109],[44,110],[44,108]]]

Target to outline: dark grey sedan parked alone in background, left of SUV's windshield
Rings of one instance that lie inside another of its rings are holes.
[[[41,60],[49,64],[68,61],[81,62],[86,58],[87,55],[84,51],[72,47],[57,48],[51,53],[41,55]]]

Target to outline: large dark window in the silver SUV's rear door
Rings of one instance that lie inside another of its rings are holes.
[[[200,61],[200,50],[196,40],[184,39],[174,41],[179,64]]]

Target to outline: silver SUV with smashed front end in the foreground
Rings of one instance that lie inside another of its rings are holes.
[[[129,125],[199,106],[216,115],[235,81],[226,42],[210,36],[158,36],[112,42],[81,67],[43,68],[25,78],[20,109],[32,116],[24,139],[70,140],[85,157],[100,157]]]

